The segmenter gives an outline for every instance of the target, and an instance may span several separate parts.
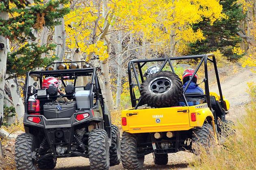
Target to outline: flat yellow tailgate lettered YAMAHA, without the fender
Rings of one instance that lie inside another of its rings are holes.
[[[189,130],[189,107],[149,108],[123,110],[127,125],[123,130],[130,133],[166,132]]]

